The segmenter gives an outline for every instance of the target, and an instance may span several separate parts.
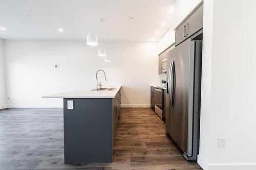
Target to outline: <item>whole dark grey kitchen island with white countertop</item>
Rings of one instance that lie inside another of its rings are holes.
[[[121,86],[43,96],[63,98],[65,163],[112,162]]]

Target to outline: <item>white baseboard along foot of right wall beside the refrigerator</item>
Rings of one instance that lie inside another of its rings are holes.
[[[204,170],[251,170],[256,169],[256,163],[208,163],[198,155],[197,163]]]

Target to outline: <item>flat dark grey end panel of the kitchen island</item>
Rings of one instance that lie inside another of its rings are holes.
[[[67,109],[72,100],[73,110]],[[65,163],[112,162],[112,99],[64,99]]]

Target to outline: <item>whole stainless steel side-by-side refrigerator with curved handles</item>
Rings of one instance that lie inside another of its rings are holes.
[[[199,153],[202,41],[187,39],[167,53],[166,131],[187,160]]]

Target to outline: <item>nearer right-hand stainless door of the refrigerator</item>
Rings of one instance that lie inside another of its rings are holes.
[[[193,43],[194,41],[188,39],[173,51],[175,91],[170,136],[188,156],[192,154],[193,140]]]

